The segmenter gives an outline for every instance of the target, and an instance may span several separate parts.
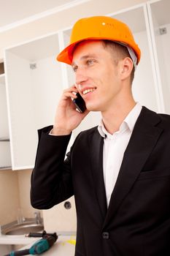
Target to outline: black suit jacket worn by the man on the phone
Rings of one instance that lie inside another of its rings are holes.
[[[31,178],[34,208],[74,195],[76,256],[170,255],[170,116],[142,108],[125,150],[109,208],[97,127],[81,132],[64,161],[70,136],[39,130]]]

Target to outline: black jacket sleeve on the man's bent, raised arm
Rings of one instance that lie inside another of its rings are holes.
[[[39,143],[31,175],[31,206],[38,209],[51,208],[74,194],[69,154],[64,160],[71,135],[49,135],[52,128],[38,131]]]

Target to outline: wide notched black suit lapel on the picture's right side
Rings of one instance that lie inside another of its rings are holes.
[[[113,218],[116,214],[117,209],[130,191],[136,178],[139,176],[152,148],[161,135],[162,129],[155,127],[155,124],[158,124],[158,122],[160,122],[160,118],[157,114],[147,110],[147,108],[142,108],[142,112],[136,121],[131,139],[125,150],[120,173],[110,199],[104,226],[106,226],[109,223],[109,219]]]

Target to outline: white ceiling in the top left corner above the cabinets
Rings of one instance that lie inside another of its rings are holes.
[[[75,0],[0,0],[0,29],[42,12],[57,10]]]

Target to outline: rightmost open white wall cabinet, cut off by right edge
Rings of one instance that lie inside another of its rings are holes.
[[[156,75],[163,91],[165,113],[170,114],[170,1],[151,1],[147,3],[152,34],[152,47],[155,55]]]

